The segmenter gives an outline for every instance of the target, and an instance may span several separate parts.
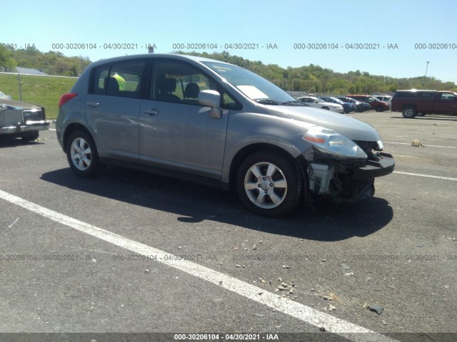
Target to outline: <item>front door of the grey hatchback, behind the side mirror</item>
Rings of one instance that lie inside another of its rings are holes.
[[[200,90],[221,92],[221,86],[184,61],[155,61],[151,73],[149,100],[143,101],[139,116],[141,162],[219,179],[229,110],[211,118],[210,108],[197,98]]]

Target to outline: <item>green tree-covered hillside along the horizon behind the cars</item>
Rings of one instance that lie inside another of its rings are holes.
[[[175,53],[184,53],[176,51]],[[298,68],[282,68],[276,64],[263,64],[261,61],[249,61],[239,56],[231,56],[227,51],[221,53],[186,52],[194,56],[213,58],[247,68],[263,78],[275,83],[286,91],[301,91],[316,94],[346,93],[385,93],[398,89],[434,89],[454,90],[453,82],[442,82],[433,77],[393,78],[370,75],[365,71],[337,73],[328,68],[310,64]],[[66,57],[63,53],[49,51],[42,53],[35,48],[6,48],[0,43],[0,71],[16,72],[16,66],[35,68],[49,75],[79,76],[91,61],[87,57]]]

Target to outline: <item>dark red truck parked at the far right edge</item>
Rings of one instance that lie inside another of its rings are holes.
[[[397,90],[393,94],[391,110],[402,112],[403,118],[432,113],[457,114],[457,93],[437,90]]]

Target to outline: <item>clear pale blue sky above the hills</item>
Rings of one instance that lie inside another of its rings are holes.
[[[91,61],[149,45],[228,51],[283,68],[457,83],[456,14],[456,0],[19,0],[1,19],[0,43]]]

